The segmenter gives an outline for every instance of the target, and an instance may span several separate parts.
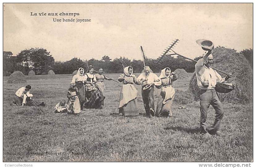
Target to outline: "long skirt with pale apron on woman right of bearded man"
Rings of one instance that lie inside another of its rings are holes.
[[[157,102],[156,116],[171,117],[173,115],[172,104],[173,104],[174,95],[171,99],[167,100],[165,104],[163,104],[164,97],[165,97],[164,92],[161,92]]]

